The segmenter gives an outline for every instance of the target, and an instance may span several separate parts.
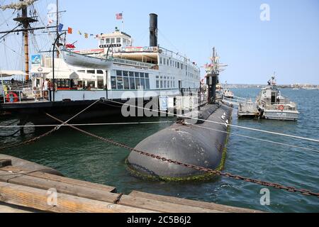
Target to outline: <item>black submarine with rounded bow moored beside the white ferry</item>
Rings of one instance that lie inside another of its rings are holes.
[[[216,100],[216,85],[220,67],[223,67],[218,59],[214,48],[211,65],[206,67],[208,104],[179,117],[177,123],[142,140],[135,147],[136,150],[185,164],[223,169],[233,109]],[[197,116],[196,122],[190,116]],[[163,162],[135,151],[128,156],[127,164],[133,175],[145,179],[184,181],[211,177],[206,172]]]

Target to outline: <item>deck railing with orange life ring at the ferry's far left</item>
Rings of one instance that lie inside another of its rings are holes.
[[[12,96],[10,96],[10,94]],[[50,93],[50,92],[48,92]],[[15,94],[15,95],[14,95]],[[28,94],[28,95],[26,95]],[[9,95],[9,96],[8,96]],[[50,94],[48,94],[50,95]],[[12,103],[22,103],[22,102],[37,102],[40,100],[48,101],[43,99],[42,91],[33,91],[33,90],[8,90],[3,92],[4,104],[12,104]]]

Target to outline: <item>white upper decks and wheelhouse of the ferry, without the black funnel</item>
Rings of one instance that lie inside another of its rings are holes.
[[[158,46],[134,47],[130,36],[121,31],[99,35],[99,49],[62,53],[68,65],[88,68],[77,68],[76,72],[94,72],[95,84],[99,84],[97,72],[100,78],[103,75],[100,84],[112,92],[111,99],[121,98],[125,91],[177,95],[181,90],[196,91],[200,87],[200,70],[194,62]]]

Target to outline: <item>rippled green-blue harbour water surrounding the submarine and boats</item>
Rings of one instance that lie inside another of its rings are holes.
[[[236,96],[254,98],[259,89],[233,89],[233,92]],[[234,111],[233,124],[319,139],[319,91],[283,89],[282,93],[298,103],[298,109],[301,111],[298,122],[238,120],[237,113]],[[174,119],[139,118],[138,120],[170,121]],[[13,119],[2,119],[1,124],[11,121]],[[123,122],[136,121],[136,119],[108,118],[96,121]],[[86,126],[83,128],[96,135],[112,138],[134,147],[147,136],[169,125],[170,123],[152,123],[126,126]],[[1,135],[13,131],[1,129]],[[12,138],[1,139],[1,146],[4,143],[33,138],[46,131],[48,128],[37,131],[34,131],[34,128],[28,128],[26,129],[27,135],[23,137],[17,134]],[[231,132],[319,150],[318,143],[238,128],[231,128]],[[319,192],[319,153],[240,138],[236,135],[230,135],[227,147],[228,156],[225,162],[225,171],[227,172]],[[125,194],[132,190],[139,190],[262,211],[319,212],[319,198],[272,188],[269,188],[271,192],[270,206],[262,206],[260,204],[262,195],[259,192],[263,187],[235,179],[215,177],[211,181],[187,183],[148,182],[138,179],[130,175],[126,169],[125,158],[129,155],[128,150],[89,138],[69,128],[62,128],[31,145],[5,150],[2,153],[50,166],[67,177],[111,185],[116,187],[118,192]]]

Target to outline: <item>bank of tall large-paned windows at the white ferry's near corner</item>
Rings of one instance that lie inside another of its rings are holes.
[[[116,74],[111,76],[111,88],[113,90],[150,89],[150,75],[144,72],[116,70]]]

